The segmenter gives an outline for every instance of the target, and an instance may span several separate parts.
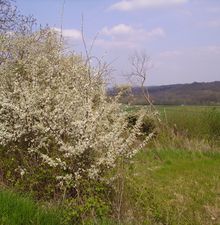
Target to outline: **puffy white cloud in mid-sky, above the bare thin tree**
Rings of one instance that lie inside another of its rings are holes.
[[[100,33],[103,38],[97,40],[96,44],[106,48],[135,48],[146,41],[166,36],[165,31],[161,27],[147,31],[141,27],[133,27],[126,24],[104,27]]]

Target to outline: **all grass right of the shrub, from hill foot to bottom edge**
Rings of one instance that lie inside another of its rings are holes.
[[[158,111],[162,123],[156,137],[122,178],[125,224],[220,224],[220,108],[160,106]]]

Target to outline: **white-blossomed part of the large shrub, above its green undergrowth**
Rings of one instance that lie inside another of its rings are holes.
[[[43,162],[57,182],[96,179],[140,148],[144,114],[128,128],[105,70],[65,52],[50,30],[0,37],[0,145],[25,157],[22,177]]]

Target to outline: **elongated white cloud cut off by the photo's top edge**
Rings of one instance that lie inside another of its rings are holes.
[[[121,0],[109,7],[110,10],[133,11],[148,8],[160,8],[172,5],[182,5],[189,0]]]

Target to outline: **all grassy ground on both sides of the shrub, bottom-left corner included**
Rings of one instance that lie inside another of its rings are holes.
[[[157,110],[162,125],[156,137],[131,164],[118,167],[116,194],[109,199],[112,210],[84,224],[220,224],[220,107]],[[0,191],[1,225],[78,224],[50,208]]]

